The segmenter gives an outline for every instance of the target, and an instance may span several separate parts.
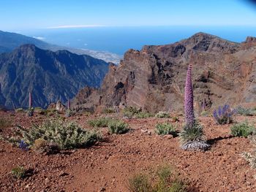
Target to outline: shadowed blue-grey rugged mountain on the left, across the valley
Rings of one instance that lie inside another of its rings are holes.
[[[22,45],[0,54],[0,104],[28,107],[29,91],[36,107],[65,102],[86,85],[99,87],[107,72],[105,61],[89,55]]]

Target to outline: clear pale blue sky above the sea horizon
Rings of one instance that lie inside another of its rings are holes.
[[[0,30],[89,26],[256,26],[246,0],[0,0]]]

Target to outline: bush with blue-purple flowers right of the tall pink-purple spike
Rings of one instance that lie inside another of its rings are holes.
[[[230,106],[225,104],[223,107],[219,106],[218,110],[214,110],[213,116],[214,119],[220,125],[233,123],[233,115],[235,110],[231,110]]]

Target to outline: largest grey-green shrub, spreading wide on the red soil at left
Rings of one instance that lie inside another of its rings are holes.
[[[35,140],[41,138],[56,143],[61,149],[86,147],[101,139],[97,131],[88,131],[74,122],[65,123],[62,120],[49,120],[29,129],[18,126],[18,130],[28,145],[34,145]]]

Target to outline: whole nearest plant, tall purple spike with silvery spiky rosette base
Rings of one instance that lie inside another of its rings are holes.
[[[209,145],[203,134],[203,126],[195,120],[192,86],[192,64],[187,69],[187,79],[185,85],[184,112],[186,125],[179,134],[181,148],[184,150],[207,150]]]

